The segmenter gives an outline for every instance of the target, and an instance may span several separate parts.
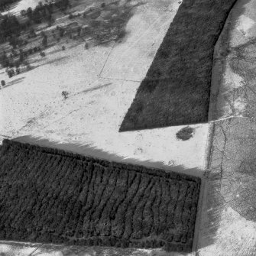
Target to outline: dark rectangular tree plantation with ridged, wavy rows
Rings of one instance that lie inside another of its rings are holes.
[[[4,140],[0,239],[191,251],[200,179]]]

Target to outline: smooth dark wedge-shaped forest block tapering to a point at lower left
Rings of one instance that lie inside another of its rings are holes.
[[[182,2],[120,131],[208,121],[214,46],[235,2]]]

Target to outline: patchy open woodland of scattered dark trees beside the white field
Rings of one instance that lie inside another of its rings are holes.
[[[94,8],[87,5],[83,6],[84,11],[82,7],[81,11],[74,11],[76,2],[70,0],[41,2],[34,9],[22,10],[19,16],[0,17],[0,65],[9,68],[8,76],[20,73],[20,66],[31,70],[29,57],[35,53],[45,57],[46,48],[60,45],[60,50],[66,50],[68,41],[85,44],[85,50],[99,44],[121,43],[134,8],[141,3],[118,0]],[[52,27],[59,16],[65,22]]]

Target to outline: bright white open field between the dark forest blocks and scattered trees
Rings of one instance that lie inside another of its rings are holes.
[[[89,50],[83,44],[66,45],[66,51],[59,45],[47,50],[47,57],[28,73],[11,79],[0,74],[10,85],[0,90],[0,134],[89,145],[125,159],[162,163],[167,169],[203,170],[208,124],[191,125],[195,132],[189,141],[176,138],[183,126],[118,132],[178,2],[148,0],[136,8],[121,44]],[[64,90],[69,92],[66,100]]]

